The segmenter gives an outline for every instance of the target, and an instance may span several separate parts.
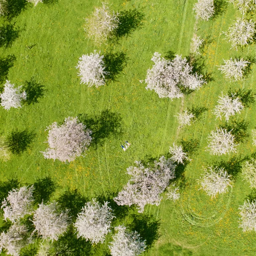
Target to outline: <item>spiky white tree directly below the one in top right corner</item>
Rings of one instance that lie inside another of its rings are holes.
[[[236,22],[224,34],[228,42],[231,42],[231,48],[236,48],[237,50],[237,46],[245,46],[252,42],[255,32],[255,22],[237,18]]]

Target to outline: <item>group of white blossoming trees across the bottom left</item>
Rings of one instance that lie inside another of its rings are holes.
[[[52,242],[58,240],[69,225],[76,229],[77,238],[90,240],[92,244],[103,243],[106,234],[111,232],[110,227],[115,216],[108,202],[100,204],[95,199],[87,202],[72,224],[69,210],[60,210],[57,202],[42,202],[35,208],[33,190],[33,186],[13,189],[2,202],[4,220],[12,222],[10,228],[0,235],[0,250],[5,250],[7,254],[19,256],[24,246],[40,237],[42,243],[37,255],[51,255]],[[30,224],[23,221],[23,218],[28,216],[32,218]],[[123,225],[114,229],[116,232],[109,244],[111,255],[135,256],[145,250],[145,241],[136,231],[129,231]]]

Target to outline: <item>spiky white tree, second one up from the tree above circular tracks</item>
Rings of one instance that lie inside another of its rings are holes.
[[[219,96],[218,105],[214,108],[214,115],[216,115],[216,118],[222,119],[222,116],[225,116],[226,121],[229,120],[230,116],[234,116],[237,112],[240,113],[240,111],[244,108],[242,102],[240,101],[240,98],[238,97],[229,97],[228,94],[226,96]]]

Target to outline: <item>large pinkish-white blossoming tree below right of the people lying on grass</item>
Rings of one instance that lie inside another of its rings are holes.
[[[164,156],[159,158],[159,162],[154,162],[153,168],[146,168],[140,161],[135,161],[136,166],[127,168],[127,173],[132,177],[114,198],[118,205],[136,204],[138,212],[144,211],[146,204],[160,204],[164,192],[171,179],[175,177],[174,170],[176,165],[171,159]]]

